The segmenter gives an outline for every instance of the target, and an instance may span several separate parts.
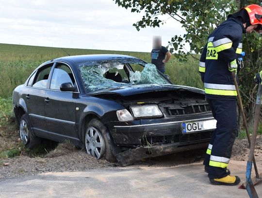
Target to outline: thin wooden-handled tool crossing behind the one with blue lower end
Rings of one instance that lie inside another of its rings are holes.
[[[243,118],[244,127],[246,129],[246,137],[247,137],[249,146],[251,146],[250,135],[249,135],[248,126],[247,126],[247,122],[246,122],[246,115],[245,115],[245,111],[244,111],[244,108],[243,108],[243,103],[242,103],[242,99],[241,99],[241,96],[240,96],[240,91],[239,91],[239,87],[238,87],[238,84],[237,84],[236,75],[235,75],[234,72],[232,72],[232,76],[233,76],[234,84],[235,84],[236,91],[237,91],[237,98],[238,98],[239,108],[240,108],[240,111],[241,111],[241,114],[242,114],[242,118]],[[256,172],[256,178],[253,180],[254,181],[254,185],[255,185],[258,182],[262,181],[262,176],[259,175],[258,168],[257,168],[257,163],[256,163],[256,160],[255,160],[254,156],[252,157],[252,160],[253,160],[254,169],[255,169],[255,172]],[[243,183],[242,186],[244,188],[246,188],[246,183]]]

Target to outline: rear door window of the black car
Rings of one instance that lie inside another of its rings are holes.
[[[37,72],[36,78],[33,81],[33,87],[36,88],[47,88],[48,86],[48,78],[50,71],[52,69],[52,65],[49,65],[48,67],[45,67],[44,69],[40,69],[40,71]]]

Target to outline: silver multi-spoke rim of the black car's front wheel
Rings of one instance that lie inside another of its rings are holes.
[[[85,132],[85,147],[89,155],[101,158],[104,154],[104,139],[98,129],[94,127],[87,128]]]

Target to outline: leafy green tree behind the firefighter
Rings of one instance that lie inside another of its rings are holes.
[[[126,9],[131,8],[131,12],[145,13],[141,20],[133,24],[138,31],[147,26],[160,27],[167,18],[180,22],[186,34],[170,38],[169,46],[171,52],[176,52],[174,55],[179,60],[184,60],[187,55],[198,59],[194,54],[202,53],[207,37],[217,25],[226,20],[229,13],[245,5],[260,2],[259,0],[115,0],[115,3]],[[244,59],[245,73],[240,72],[240,85],[246,114],[252,118],[255,92],[250,88],[254,87],[253,76],[261,67],[262,37],[250,34],[247,38],[248,44],[244,39],[243,47],[247,54]],[[184,48],[186,43],[190,45],[189,51]]]

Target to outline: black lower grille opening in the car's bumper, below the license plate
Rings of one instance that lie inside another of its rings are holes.
[[[142,138],[141,144],[143,146],[160,145],[160,144],[173,144],[173,143],[190,143],[196,141],[210,140],[213,131],[204,131],[198,133],[189,134],[177,134],[177,135],[166,135],[166,136],[153,136]]]

